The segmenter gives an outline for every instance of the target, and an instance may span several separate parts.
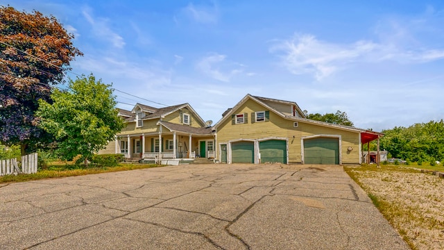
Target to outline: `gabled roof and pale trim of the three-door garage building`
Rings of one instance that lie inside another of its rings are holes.
[[[345,131],[352,131],[352,132],[356,132],[356,133],[364,133],[365,136],[366,136],[366,139],[361,138],[362,142],[364,142],[364,141],[368,142],[369,140],[370,141],[371,140],[375,140],[375,138],[377,138],[378,136],[384,135],[383,133],[379,133],[379,132],[375,132],[375,131],[368,131],[368,130],[362,129],[362,128],[355,128],[353,126],[345,126],[345,125],[340,125],[340,124],[330,124],[330,123],[327,123],[327,122],[320,122],[320,121],[315,121],[315,120],[312,120],[312,119],[285,115],[284,113],[280,112],[279,110],[276,110],[275,108],[269,106],[264,101],[275,101],[275,102],[280,102],[280,103],[293,104],[293,105],[296,105],[296,107],[300,110],[298,104],[296,104],[296,102],[293,102],[293,101],[283,101],[283,100],[270,99],[270,98],[265,98],[265,97],[254,97],[251,94],[247,94],[230,111],[227,110],[228,113],[226,113],[225,116],[222,117],[222,119],[219,120],[219,122],[214,124],[213,128],[217,128],[220,124],[225,122],[226,119],[231,119],[231,115],[241,105],[243,105],[244,103],[246,103],[246,101],[248,101],[250,99],[253,100],[253,101],[256,101],[257,103],[259,103],[260,105],[264,106],[265,108],[268,108],[268,110],[270,110],[271,112],[279,115],[280,117],[283,117],[284,119],[289,119],[289,120],[293,120],[293,121],[296,121],[296,122],[305,122],[305,123],[309,123],[309,124],[316,124],[316,125],[319,125],[319,126],[325,126],[325,127],[330,127],[330,128],[333,127],[333,128],[338,128],[338,129],[345,130]]]

